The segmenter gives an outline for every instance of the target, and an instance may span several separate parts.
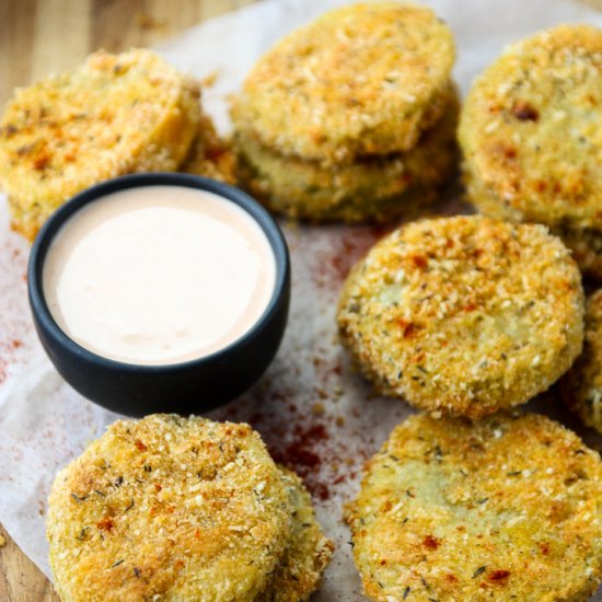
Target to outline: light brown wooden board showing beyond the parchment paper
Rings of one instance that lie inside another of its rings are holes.
[[[0,0],[0,106],[14,88],[69,69],[92,50],[151,46],[254,0]],[[583,0],[602,9],[602,0]],[[0,525],[0,602],[58,602]]]

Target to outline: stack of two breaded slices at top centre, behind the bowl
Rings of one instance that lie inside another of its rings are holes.
[[[433,200],[455,170],[454,56],[432,11],[396,2],[297,30],[233,104],[243,183],[310,221],[385,221]]]

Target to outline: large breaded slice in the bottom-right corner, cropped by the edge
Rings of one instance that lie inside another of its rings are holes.
[[[397,426],[346,508],[381,602],[584,601],[602,580],[602,464],[558,422],[427,414]]]

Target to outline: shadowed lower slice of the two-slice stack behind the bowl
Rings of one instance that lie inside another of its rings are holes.
[[[425,206],[454,174],[459,100],[450,92],[442,118],[416,147],[354,163],[323,166],[285,157],[239,132],[241,180],[270,210],[312,221],[386,221]]]

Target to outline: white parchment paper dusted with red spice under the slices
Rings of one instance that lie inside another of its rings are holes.
[[[343,3],[266,0],[194,27],[159,50],[199,78],[217,73],[204,105],[227,131],[228,95],[240,88],[255,60],[290,30]],[[563,0],[425,3],[448,21],[455,35],[454,77],[463,92],[509,42],[560,22],[602,26],[600,13]],[[444,212],[458,209],[454,202],[442,208]],[[285,234],[293,278],[281,349],[252,391],[210,416],[251,421],[275,456],[291,462],[306,478],[319,519],[337,546],[315,600],[362,600],[349,534],[340,520],[341,506],[357,490],[364,460],[412,410],[403,402],[373,397],[367,384],[348,370],[336,343],[334,315],[347,269],[381,232],[285,225]],[[5,198],[0,195],[0,521],[50,576],[44,517],[54,475],[120,416],[81,397],[47,360],[27,306],[27,243],[9,229]],[[554,400],[539,402],[536,408],[576,426]],[[586,436],[601,449],[600,438]],[[602,601],[602,593],[594,600]]]

